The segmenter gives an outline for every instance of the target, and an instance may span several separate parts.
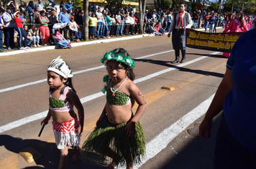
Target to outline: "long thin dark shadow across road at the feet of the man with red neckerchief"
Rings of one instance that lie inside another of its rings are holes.
[[[170,64],[170,62],[166,62],[163,60],[153,60],[153,59],[135,59],[135,60],[137,62],[147,62],[147,63],[151,63],[151,64],[159,64],[159,65],[165,66],[165,67],[173,67],[173,68],[176,68],[179,71],[183,71],[183,72],[204,74],[206,76],[214,76],[214,77],[224,77],[224,74],[221,74],[221,73],[209,72],[209,71],[204,71],[201,69],[188,69],[186,67],[178,67],[178,64]]]

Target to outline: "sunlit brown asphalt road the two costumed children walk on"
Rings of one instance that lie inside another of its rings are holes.
[[[147,110],[140,119],[147,155],[144,163],[134,168],[213,168],[214,140],[220,117],[214,120],[209,140],[198,137],[198,125],[224,76],[227,58],[218,52],[188,48],[186,62],[170,64],[174,52],[167,36],[0,56],[0,168],[58,168],[60,155],[51,124],[45,126],[41,137],[37,135],[48,107],[47,67],[59,55],[74,72],[73,84],[83,102],[83,143],[106,102],[101,95],[106,69],[100,59],[116,47],[127,49],[135,59],[135,82],[147,100]],[[173,91],[161,89],[163,86]],[[19,155],[28,147],[40,154],[32,163]],[[74,153],[69,150],[70,156]],[[69,161],[67,168],[99,166],[78,160],[77,163]]]

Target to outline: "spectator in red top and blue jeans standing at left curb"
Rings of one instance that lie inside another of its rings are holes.
[[[15,30],[18,32],[19,49],[29,49],[29,47],[27,47],[27,34],[26,32],[24,32],[22,19],[20,19],[19,17],[19,11],[14,13],[14,22],[16,24]],[[22,47],[22,43],[23,43],[23,47]]]

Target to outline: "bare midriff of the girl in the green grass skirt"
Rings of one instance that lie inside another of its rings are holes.
[[[131,111],[132,104],[127,105],[111,105],[108,102],[106,103],[106,114],[111,122],[114,125],[119,125],[124,122],[128,122],[132,117]]]

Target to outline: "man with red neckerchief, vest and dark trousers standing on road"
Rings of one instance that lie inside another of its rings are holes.
[[[182,63],[186,59],[186,37],[185,28],[190,29],[193,22],[191,15],[185,11],[186,4],[180,3],[179,12],[174,14],[172,24],[170,25],[170,30],[168,37],[170,37],[170,32],[173,32],[172,42],[173,49],[175,50],[175,60],[171,63]],[[180,61],[180,50],[182,54],[182,59]]]

